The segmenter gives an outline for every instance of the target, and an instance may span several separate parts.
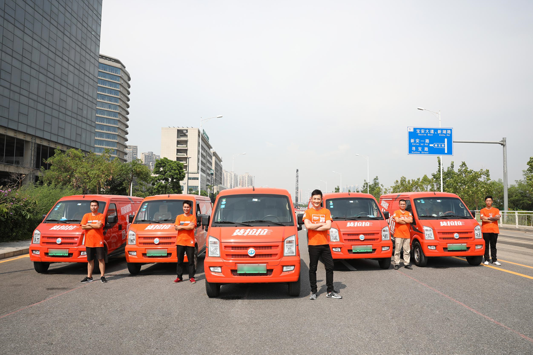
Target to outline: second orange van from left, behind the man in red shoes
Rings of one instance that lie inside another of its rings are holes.
[[[130,274],[139,274],[143,264],[177,262],[177,232],[174,222],[179,214],[183,214],[183,201],[192,201],[191,213],[197,216],[194,254],[196,270],[198,255],[205,252],[206,232],[201,226],[201,217],[211,214],[211,200],[206,196],[166,194],[146,197],[135,216],[130,217],[126,245]],[[188,262],[187,255],[184,262]]]

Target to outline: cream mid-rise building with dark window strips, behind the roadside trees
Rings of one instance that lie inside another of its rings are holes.
[[[202,142],[201,154],[200,139]],[[207,185],[211,183],[211,169],[213,167],[212,148],[205,131],[200,135],[198,128],[161,128],[161,156],[181,162],[185,173],[189,168],[189,174],[183,181],[183,188],[186,188],[185,185],[188,182],[187,186],[192,191],[198,193],[198,186],[207,191]]]

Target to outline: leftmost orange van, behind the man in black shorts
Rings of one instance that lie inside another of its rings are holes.
[[[43,221],[34,230],[29,254],[38,273],[48,270],[51,262],[87,262],[85,233],[80,222],[85,213],[91,213],[92,200],[99,202],[98,212],[106,216],[103,234],[108,256],[124,252],[128,216],[139,208],[141,197],[66,196],[43,216]]]

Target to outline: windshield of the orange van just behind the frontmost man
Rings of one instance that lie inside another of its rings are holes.
[[[376,201],[367,198],[327,199],[324,206],[332,213],[334,220],[383,219]]]

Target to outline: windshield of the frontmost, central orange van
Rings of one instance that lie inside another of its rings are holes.
[[[290,201],[285,195],[246,194],[220,197],[213,226],[294,226]]]

